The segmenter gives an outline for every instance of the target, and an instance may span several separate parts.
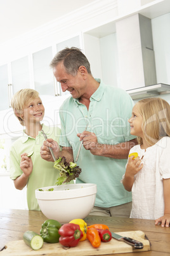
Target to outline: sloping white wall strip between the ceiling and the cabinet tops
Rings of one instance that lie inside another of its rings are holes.
[[[81,11],[75,10],[71,15],[56,18],[53,22],[1,44],[0,65],[73,38],[82,31],[110,22],[116,15],[117,0],[98,0],[84,6]]]

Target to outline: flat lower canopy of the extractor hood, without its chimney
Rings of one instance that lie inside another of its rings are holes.
[[[156,85],[126,90],[126,92],[128,92],[132,99],[143,99],[146,97],[160,96],[162,94],[170,94],[170,85],[158,83]]]

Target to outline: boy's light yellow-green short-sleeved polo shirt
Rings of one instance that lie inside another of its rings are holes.
[[[42,125],[42,129],[48,138],[59,141],[61,130],[58,127],[48,127]],[[20,155],[22,153],[29,153],[34,151],[31,159],[33,162],[32,173],[29,176],[27,183],[27,204],[29,210],[40,210],[37,203],[35,190],[36,188],[53,186],[59,176],[59,171],[53,166],[53,162],[43,160],[40,155],[40,148],[44,142],[44,136],[41,132],[37,135],[36,139],[23,133],[23,136],[17,139],[10,150],[10,178],[15,180],[23,172],[20,169]]]

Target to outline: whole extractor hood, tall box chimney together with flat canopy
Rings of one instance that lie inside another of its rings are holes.
[[[170,85],[157,82],[151,19],[128,16],[116,22],[116,34],[120,87],[134,100],[170,94]]]

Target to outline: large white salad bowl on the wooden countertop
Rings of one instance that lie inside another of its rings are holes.
[[[47,191],[54,188],[53,191]],[[61,224],[75,218],[85,218],[93,209],[97,186],[93,183],[65,184],[36,189],[36,199],[42,213]]]

